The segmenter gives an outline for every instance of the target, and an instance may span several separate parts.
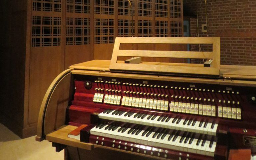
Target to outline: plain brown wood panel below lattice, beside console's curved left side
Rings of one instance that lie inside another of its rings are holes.
[[[31,49],[28,123],[37,123],[44,94],[64,69],[61,47],[37,47]]]

